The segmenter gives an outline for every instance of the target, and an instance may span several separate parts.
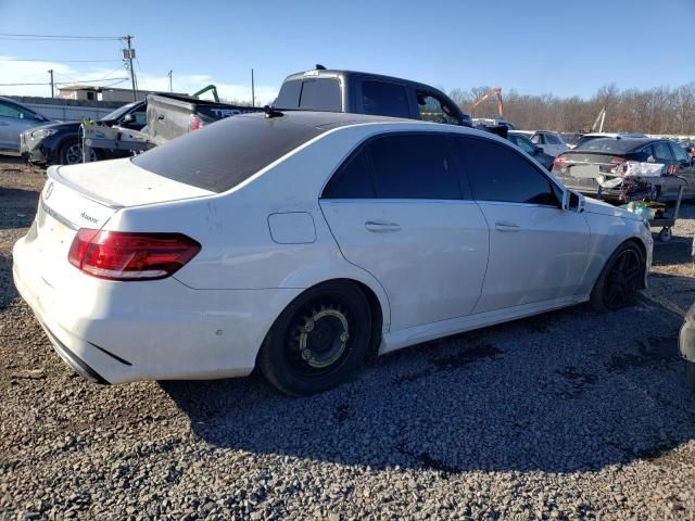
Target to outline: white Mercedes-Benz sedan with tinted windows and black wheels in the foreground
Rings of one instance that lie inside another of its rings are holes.
[[[101,383],[331,387],[365,356],[646,284],[643,219],[508,141],[354,114],[235,116],[135,158],[51,167],[14,280]]]

